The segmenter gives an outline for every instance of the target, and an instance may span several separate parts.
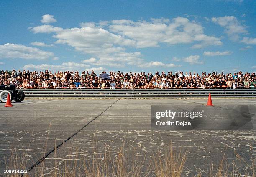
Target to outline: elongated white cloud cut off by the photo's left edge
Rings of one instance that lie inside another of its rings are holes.
[[[46,52],[35,47],[10,43],[0,45],[0,58],[45,60],[53,56],[53,52]]]

